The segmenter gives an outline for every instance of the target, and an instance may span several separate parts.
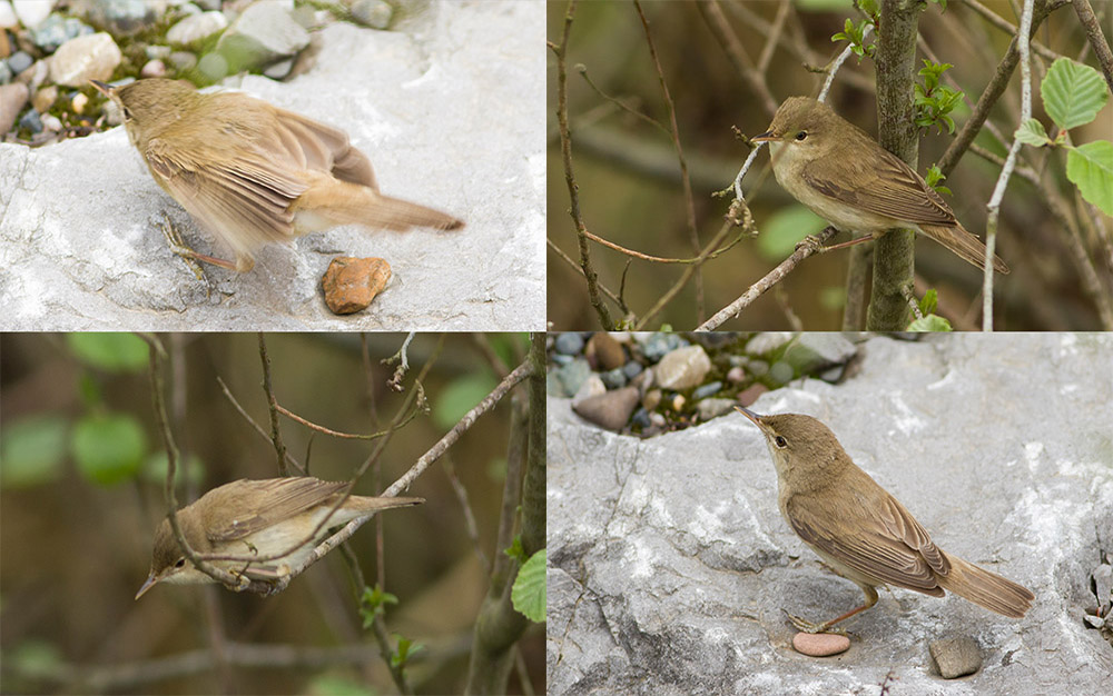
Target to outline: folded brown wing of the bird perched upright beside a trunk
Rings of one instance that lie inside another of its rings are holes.
[[[875,215],[917,225],[955,225],[955,213],[912,167],[873,140],[858,145],[869,147],[873,155],[857,160],[857,170],[849,175],[843,171],[846,160],[830,158],[805,166],[801,175],[825,196]],[[860,185],[848,187],[848,179]]]

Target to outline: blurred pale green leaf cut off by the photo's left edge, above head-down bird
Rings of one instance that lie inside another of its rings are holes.
[[[69,420],[28,416],[4,424],[0,431],[0,487],[27,488],[50,483],[61,474]]]

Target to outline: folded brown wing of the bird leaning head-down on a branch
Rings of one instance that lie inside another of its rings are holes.
[[[208,537],[216,543],[230,541],[255,534],[287,517],[297,515],[315,505],[321,505],[343,490],[346,485],[344,481],[323,481],[308,476],[234,481],[209,494],[217,494],[221,497],[215,501],[217,505],[248,491],[260,496],[256,498],[260,505],[254,509],[244,510],[240,518],[223,524],[207,525]]]

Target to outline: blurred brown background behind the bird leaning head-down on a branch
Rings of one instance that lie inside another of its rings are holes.
[[[217,379],[269,435],[254,334],[160,337],[170,355],[167,409],[188,461],[185,504],[238,478],[278,475],[275,450],[221,392]],[[278,402],[345,432],[386,427],[444,341],[424,380],[429,411],[391,439],[354,493],[375,495],[408,469],[523,359],[524,335],[417,335],[398,394],[380,361],[405,335],[266,337]],[[341,550],[264,598],[224,588],[158,585],[147,576],[151,537],[166,514],[166,470],[155,428],[146,344],[130,335],[0,336],[0,650],[3,693],[373,694],[396,690],[363,628]],[[523,391],[520,386],[518,391]],[[513,392],[512,392],[513,394]],[[408,495],[426,504],[376,516],[349,545],[376,580],[383,525],[392,634],[420,644],[406,666],[416,693],[456,693],[467,672],[475,616],[487,590],[505,479],[510,397],[482,416]],[[345,440],[283,417],[289,453],[313,476],[349,478],[375,441]],[[451,468],[452,476],[449,475]],[[454,490],[466,496],[469,511]],[[188,489],[189,493],[186,493]],[[469,534],[474,518],[476,541]],[[395,636],[397,639],[397,636]],[[256,666],[208,664],[214,642],[262,648]],[[541,634],[531,626],[521,664],[543,690]],[[287,646],[267,652],[267,646]],[[171,657],[164,660],[159,658]],[[510,688],[522,693],[511,677]],[[532,692],[528,692],[532,693]]]

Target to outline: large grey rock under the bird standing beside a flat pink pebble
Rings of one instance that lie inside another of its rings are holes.
[[[827,665],[792,650],[781,607],[821,620],[861,591],[781,518],[752,424],[643,440],[585,426],[567,400],[548,407],[549,693],[871,694],[890,673],[907,694],[1107,690],[1113,652],[1082,614],[1113,528],[1113,335],[875,337],[854,379],[758,400],[826,422],[943,549],[1037,597],[1008,619],[881,591]],[[925,644],[956,634],[977,637],[984,664],[944,684]]]

